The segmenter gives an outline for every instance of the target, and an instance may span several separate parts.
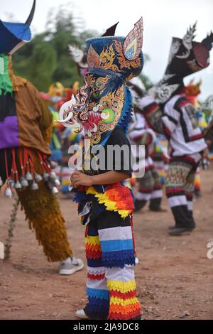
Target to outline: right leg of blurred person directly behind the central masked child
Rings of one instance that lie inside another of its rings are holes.
[[[153,174],[154,190],[151,193],[149,208],[151,211],[160,211],[160,205],[163,198],[163,191],[162,191],[163,185],[160,183],[160,177],[155,168],[153,168],[151,172]]]

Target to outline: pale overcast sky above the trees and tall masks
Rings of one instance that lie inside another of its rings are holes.
[[[32,3],[33,0],[0,0],[1,20],[11,13],[18,21],[26,21]],[[43,31],[48,11],[67,3],[67,0],[37,0],[33,30]],[[213,0],[73,0],[67,9],[83,18],[85,28],[95,29],[100,34],[119,21],[116,30],[119,36],[126,36],[143,16],[143,51],[151,57],[143,72],[153,82],[163,76],[172,36],[182,38],[187,27],[196,20],[195,41],[202,41],[208,32],[213,31]],[[195,80],[202,79],[202,99],[213,94],[213,50],[211,62],[208,69],[192,75]],[[185,82],[190,78],[187,77]]]

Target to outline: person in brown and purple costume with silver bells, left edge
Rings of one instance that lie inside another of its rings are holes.
[[[48,261],[60,261],[60,274],[73,274],[83,262],[72,257],[65,220],[55,198],[58,185],[50,166],[52,116],[30,82],[13,74],[11,55],[31,41],[30,24],[0,21],[0,187],[12,188]]]

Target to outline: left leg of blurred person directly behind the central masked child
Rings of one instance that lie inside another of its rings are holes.
[[[136,193],[135,212],[144,208],[148,200],[151,199],[153,192],[154,180],[151,170],[145,172],[143,178],[138,180],[139,186]]]

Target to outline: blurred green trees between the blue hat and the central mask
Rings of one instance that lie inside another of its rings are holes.
[[[21,48],[13,56],[13,68],[16,75],[26,77],[44,92],[53,83],[60,81],[70,87],[82,78],[68,52],[68,45],[82,47],[85,40],[94,36],[94,31],[78,31],[76,19],[67,7],[61,6],[54,14],[48,14],[44,33],[35,35],[33,41]]]

